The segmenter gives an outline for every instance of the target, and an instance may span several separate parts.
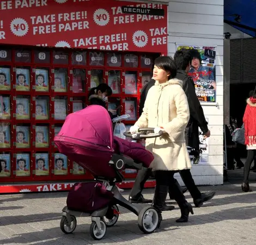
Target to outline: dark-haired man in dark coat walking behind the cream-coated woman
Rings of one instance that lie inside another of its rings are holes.
[[[174,60],[178,68],[176,78],[183,81],[183,89],[187,95],[188,106],[190,107],[190,121],[186,127],[186,143],[191,148],[195,149],[196,157],[199,156],[199,130],[198,126],[203,131],[205,137],[210,137],[210,131],[207,126],[207,121],[204,117],[203,108],[197,99],[196,90],[194,88],[194,82],[191,77],[187,76],[187,72],[190,70],[192,56],[190,52],[186,50],[180,50],[175,53]],[[148,90],[153,87],[155,81],[152,79],[141,92],[141,102],[139,105],[139,113],[142,113],[145,99],[147,97]],[[200,207],[205,201],[212,199],[215,195],[215,192],[201,193],[194,183],[193,177],[191,175],[190,169],[185,169],[179,171],[180,176],[185,183],[188,191],[194,200],[194,205]],[[135,185],[132,188],[132,191],[129,196],[129,200],[132,203],[149,203],[151,200],[144,199],[142,193],[144,183],[147,181],[148,177],[151,175],[150,170],[139,170],[138,175],[135,180]],[[179,185],[176,181],[176,185]],[[180,187],[180,186],[179,186]],[[181,188],[181,187],[180,187]],[[185,192],[186,189],[183,189]],[[170,199],[172,199],[171,190],[169,190]],[[164,210],[172,210],[172,206],[164,206]]]

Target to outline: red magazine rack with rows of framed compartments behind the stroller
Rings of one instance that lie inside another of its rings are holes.
[[[0,183],[89,180],[53,139],[68,114],[89,105],[90,88],[107,83],[108,110],[138,119],[139,92],[151,79],[151,54],[1,47]],[[124,172],[133,178],[132,170]]]

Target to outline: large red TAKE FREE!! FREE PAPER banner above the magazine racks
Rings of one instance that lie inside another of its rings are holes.
[[[164,9],[123,14],[122,6]],[[167,5],[114,0],[1,0],[0,43],[167,53]]]

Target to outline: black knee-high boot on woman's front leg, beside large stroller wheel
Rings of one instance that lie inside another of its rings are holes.
[[[162,209],[166,201],[167,193],[168,193],[169,186],[158,186],[156,185],[155,188],[155,196],[154,196],[154,203],[153,207],[155,207],[158,215],[159,215],[159,222],[157,224],[157,228],[160,227],[162,222]]]

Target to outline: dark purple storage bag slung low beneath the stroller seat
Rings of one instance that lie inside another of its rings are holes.
[[[101,182],[75,183],[71,188],[66,205],[70,210],[92,213],[111,203],[114,194],[107,191]]]

